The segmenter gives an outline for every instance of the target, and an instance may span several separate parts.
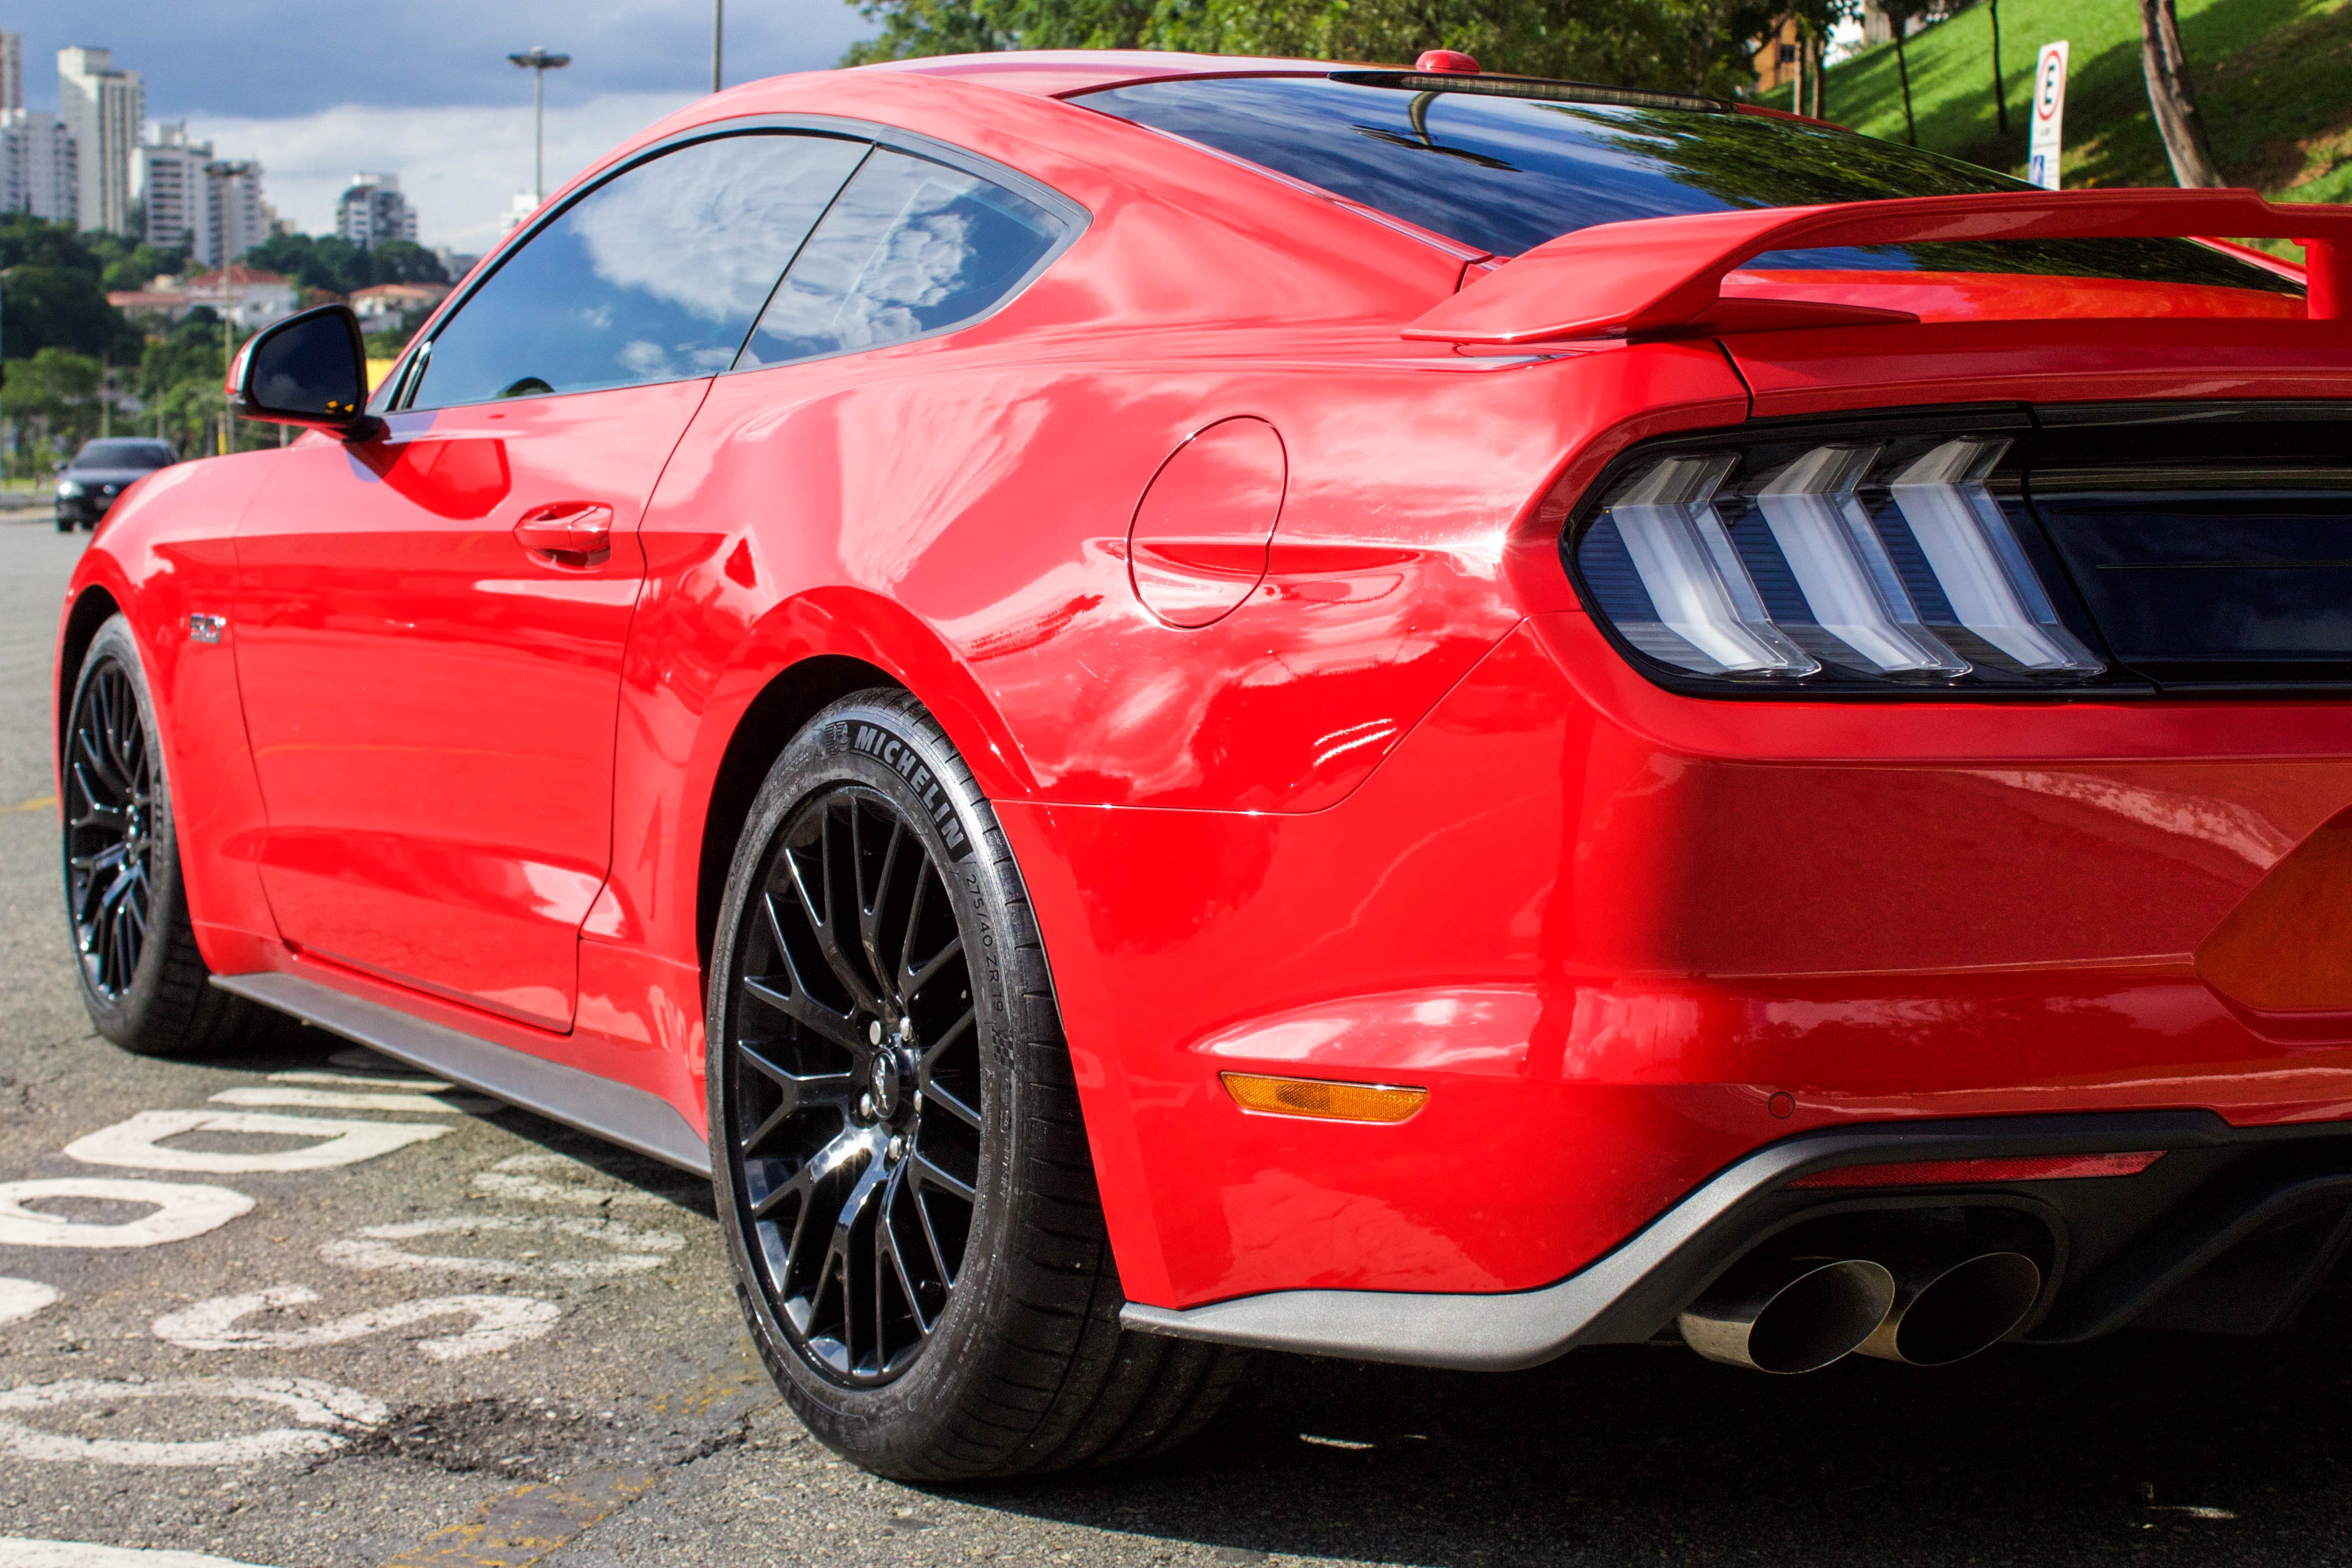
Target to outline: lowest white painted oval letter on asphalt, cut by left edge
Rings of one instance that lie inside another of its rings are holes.
[[[263,1403],[285,1410],[299,1425],[172,1443],[68,1436],[9,1420],[19,1410],[59,1410],[87,1403],[120,1406],[143,1399]],[[332,1382],[313,1378],[155,1378],[153,1382],[73,1378],[68,1382],[33,1382],[0,1394],[0,1453],[14,1453],[19,1460],[162,1465],[172,1469],[252,1465],[256,1460],[329,1453],[348,1441],[343,1432],[376,1427],[390,1420],[390,1408],[381,1399],[372,1399],[358,1389],[339,1389]]]

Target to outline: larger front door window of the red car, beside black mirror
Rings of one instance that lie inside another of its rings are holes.
[[[433,336],[409,407],[715,376],[866,153],[840,136],[743,134],[609,179]]]

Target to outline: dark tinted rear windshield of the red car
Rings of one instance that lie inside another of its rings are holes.
[[[1595,223],[1726,207],[2032,190],[1957,158],[1722,108],[1423,89],[1430,78],[1183,78],[1077,96],[1463,244],[1517,256]],[[1508,87],[1508,82],[1496,82]],[[1538,89],[1543,92],[1543,89]],[[2300,294],[2190,240],[2004,240],[1769,252],[1759,270],[2140,277]]]

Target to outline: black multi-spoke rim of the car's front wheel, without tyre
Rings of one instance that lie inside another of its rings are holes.
[[[155,766],[139,691],[118,658],[82,679],[66,724],[66,907],[82,985],[120,1006],[155,903]]]

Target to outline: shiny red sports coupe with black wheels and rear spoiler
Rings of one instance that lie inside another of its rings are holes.
[[[739,87],[99,529],[85,997],[708,1171],[898,1476],[1232,1347],[2272,1328],[2352,1234],[2347,310],[2347,209],[1461,56]]]

